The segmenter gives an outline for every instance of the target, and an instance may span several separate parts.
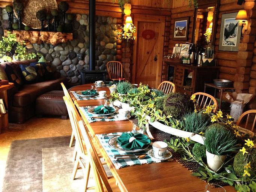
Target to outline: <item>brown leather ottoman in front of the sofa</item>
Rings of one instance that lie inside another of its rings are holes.
[[[40,115],[59,115],[66,119],[68,111],[63,101],[63,91],[51,91],[40,95],[36,99],[36,114]]]

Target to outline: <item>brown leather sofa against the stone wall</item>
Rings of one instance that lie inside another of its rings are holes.
[[[5,69],[6,65],[14,66],[19,68],[20,64],[30,65],[36,60],[23,60],[15,62],[5,62],[0,65]],[[18,75],[21,75],[22,72],[18,72]],[[8,74],[7,74],[8,75]],[[17,74],[16,74],[17,75]],[[8,77],[9,82],[11,77]],[[60,77],[59,72],[54,72],[51,80],[36,82],[32,84],[22,84],[21,87],[15,86],[14,88],[8,90],[8,113],[9,113],[9,122],[13,123],[24,123],[30,117],[36,114],[35,102],[38,96],[53,91],[53,90],[62,90],[60,83],[65,82],[64,77]]]

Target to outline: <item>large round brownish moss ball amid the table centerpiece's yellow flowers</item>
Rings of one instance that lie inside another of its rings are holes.
[[[194,104],[188,95],[169,93],[164,99],[164,113],[173,118],[181,119],[184,114],[194,111]]]

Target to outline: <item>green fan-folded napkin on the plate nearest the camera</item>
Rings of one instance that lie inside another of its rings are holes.
[[[129,139],[131,137],[133,137],[133,141],[130,142]],[[150,144],[150,139],[142,133],[136,135],[133,133],[122,133],[122,135],[117,138],[117,143],[126,150],[142,149],[145,145]]]

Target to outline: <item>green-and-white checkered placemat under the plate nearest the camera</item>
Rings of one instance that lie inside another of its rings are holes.
[[[111,133],[113,135],[121,135],[122,133],[118,132],[118,133]],[[111,135],[108,134],[108,135]],[[161,161],[154,161],[151,157],[149,157],[148,155],[144,158],[144,159],[120,159],[120,160],[116,160],[114,158],[114,155],[119,155],[119,154],[133,154],[133,153],[127,153],[124,151],[117,151],[114,148],[110,147],[108,145],[108,140],[112,137],[112,136],[105,136],[107,134],[99,134],[96,135],[99,139],[99,142],[101,143],[102,147],[104,148],[104,150],[106,151],[106,153],[108,154],[108,157],[110,157],[110,160],[113,162],[114,166],[116,169],[119,168],[123,168],[126,166],[133,166],[133,165],[142,165],[145,163],[159,163]],[[146,149],[144,151],[139,151],[136,152],[135,154],[145,154],[148,152],[149,149]]]

